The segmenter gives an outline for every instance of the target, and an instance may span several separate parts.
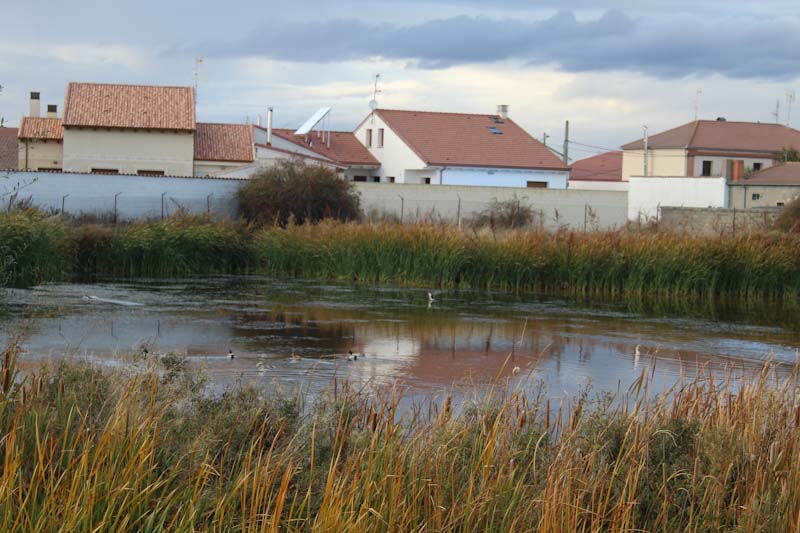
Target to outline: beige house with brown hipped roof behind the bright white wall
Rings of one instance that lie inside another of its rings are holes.
[[[622,179],[634,176],[742,179],[772,166],[786,147],[800,148],[800,131],[781,124],[696,120],[622,147]]]

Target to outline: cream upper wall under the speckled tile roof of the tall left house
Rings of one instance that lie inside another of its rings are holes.
[[[117,169],[136,174],[161,170],[167,175],[191,176],[194,135],[187,132],[64,129],[64,171]]]

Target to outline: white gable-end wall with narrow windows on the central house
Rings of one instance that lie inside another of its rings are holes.
[[[382,148],[378,148],[378,130],[380,128],[383,128],[384,132]],[[395,178],[395,183],[420,183],[420,176],[415,175],[415,173],[409,173],[406,176],[405,171],[422,170],[426,167],[425,162],[378,115],[371,114],[355,131],[356,138],[364,146],[366,146],[366,132],[368,129],[372,129],[372,147],[367,147],[367,149],[381,162],[381,168],[371,171],[369,175],[380,176],[381,181],[384,182],[388,181],[387,178],[391,176]],[[425,175],[428,176],[429,174],[431,182],[434,182],[434,174],[428,173]]]

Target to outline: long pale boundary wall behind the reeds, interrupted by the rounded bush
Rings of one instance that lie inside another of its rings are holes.
[[[18,189],[19,199],[71,215],[112,215],[114,196],[119,220],[159,218],[184,209],[218,217],[236,216],[235,193],[241,179],[208,177],[148,177],[108,174],[0,171],[0,208]],[[620,227],[627,220],[627,194],[516,187],[356,183],[367,216],[390,216],[405,222],[436,220],[466,222],[497,201],[518,200],[534,211],[544,228]]]

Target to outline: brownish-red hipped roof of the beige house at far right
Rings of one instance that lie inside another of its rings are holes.
[[[697,120],[651,135],[652,149],[685,148],[736,152],[775,153],[787,146],[800,148],[800,131],[782,124]],[[644,139],[628,143],[623,150],[642,150]]]

